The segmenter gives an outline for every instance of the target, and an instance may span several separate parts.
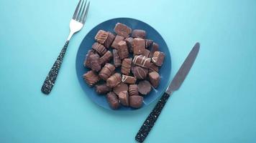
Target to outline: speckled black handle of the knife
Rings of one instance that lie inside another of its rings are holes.
[[[140,127],[140,130],[135,137],[137,142],[143,142],[147,137],[147,134],[150,133],[150,130],[154,126],[155,122],[157,121],[157,118],[159,117],[169,97],[170,95],[165,93],[163,94],[161,99],[157,102],[157,104],[155,105],[155,108],[152,110],[150,115],[148,115],[147,119],[142,124],[142,127]]]

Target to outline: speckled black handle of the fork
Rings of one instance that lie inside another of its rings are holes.
[[[58,58],[56,59],[55,63],[52,66],[52,69],[50,69],[44,84],[42,84],[41,91],[44,94],[50,94],[50,91],[52,90],[52,87],[54,86],[55,80],[57,79],[60,66],[63,63],[63,58],[65,56],[65,51],[68,48],[69,41],[65,42],[65,45],[63,46],[63,49],[60,51],[60,54]]]

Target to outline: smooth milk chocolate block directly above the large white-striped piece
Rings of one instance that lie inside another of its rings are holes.
[[[133,53],[142,54],[145,50],[145,39],[134,38],[132,41]]]

